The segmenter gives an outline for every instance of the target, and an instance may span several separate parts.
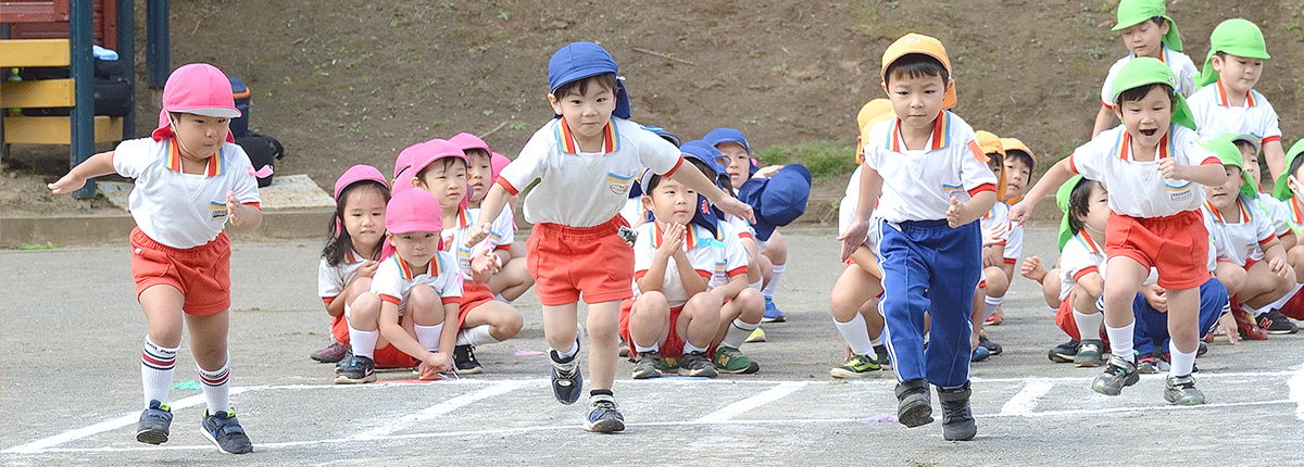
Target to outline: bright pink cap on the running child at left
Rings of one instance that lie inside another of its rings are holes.
[[[159,110],[159,127],[150,133],[154,141],[175,134],[168,112],[227,119],[240,116],[231,93],[231,81],[220,69],[206,63],[181,65],[167,78],[167,85],[163,86],[163,108]],[[230,132],[227,142],[235,142],[235,136]]]

